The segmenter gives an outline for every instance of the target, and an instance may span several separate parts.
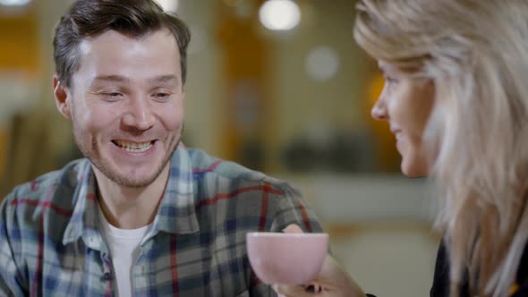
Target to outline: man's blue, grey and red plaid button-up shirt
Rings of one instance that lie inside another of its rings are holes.
[[[112,296],[87,159],[13,190],[0,208],[0,295]],[[287,183],[180,146],[132,267],[135,296],[275,295],[251,271],[245,234],[320,226]]]

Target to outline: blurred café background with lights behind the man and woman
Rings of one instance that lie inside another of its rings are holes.
[[[429,294],[430,186],[399,173],[353,0],[165,0],[192,31],[183,142],[300,188],[367,292]],[[72,0],[0,0],[0,199],[81,157],[55,108],[52,30]]]

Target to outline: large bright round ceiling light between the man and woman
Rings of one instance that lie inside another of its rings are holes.
[[[291,30],[301,21],[301,9],[292,0],[268,0],[260,6],[259,19],[269,30]]]

